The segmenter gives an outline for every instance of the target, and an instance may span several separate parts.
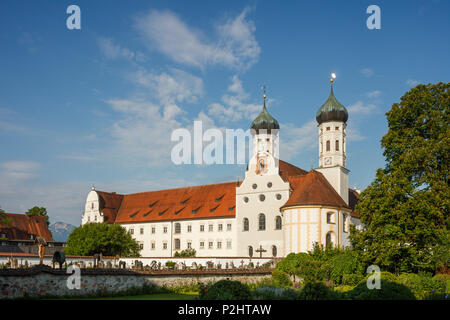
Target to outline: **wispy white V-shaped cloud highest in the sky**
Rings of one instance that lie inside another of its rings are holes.
[[[198,68],[223,65],[247,69],[261,51],[253,21],[247,20],[249,9],[219,25],[216,35],[208,39],[202,32],[185,24],[170,11],[152,10],[136,19],[135,27],[151,49],[172,60]]]

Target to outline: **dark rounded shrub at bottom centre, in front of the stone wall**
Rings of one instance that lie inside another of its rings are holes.
[[[220,280],[209,288],[201,287],[202,300],[249,300],[252,295],[250,289],[239,281]]]

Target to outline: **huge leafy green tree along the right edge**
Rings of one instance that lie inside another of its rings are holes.
[[[386,157],[357,211],[365,229],[352,228],[359,258],[383,270],[446,267],[449,233],[450,83],[418,85],[386,113]]]

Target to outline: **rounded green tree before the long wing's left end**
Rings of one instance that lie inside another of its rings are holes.
[[[72,231],[64,249],[67,255],[93,255],[138,257],[139,245],[118,224],[87,223]]]

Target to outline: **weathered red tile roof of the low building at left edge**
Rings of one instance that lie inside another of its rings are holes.
[[[43,237],[47,242],[53,241],[52,233],[42,216],[7,213],[10,225],[0,224],[0,234],[6,234],[9,240],[31,240],[30,235]]]

